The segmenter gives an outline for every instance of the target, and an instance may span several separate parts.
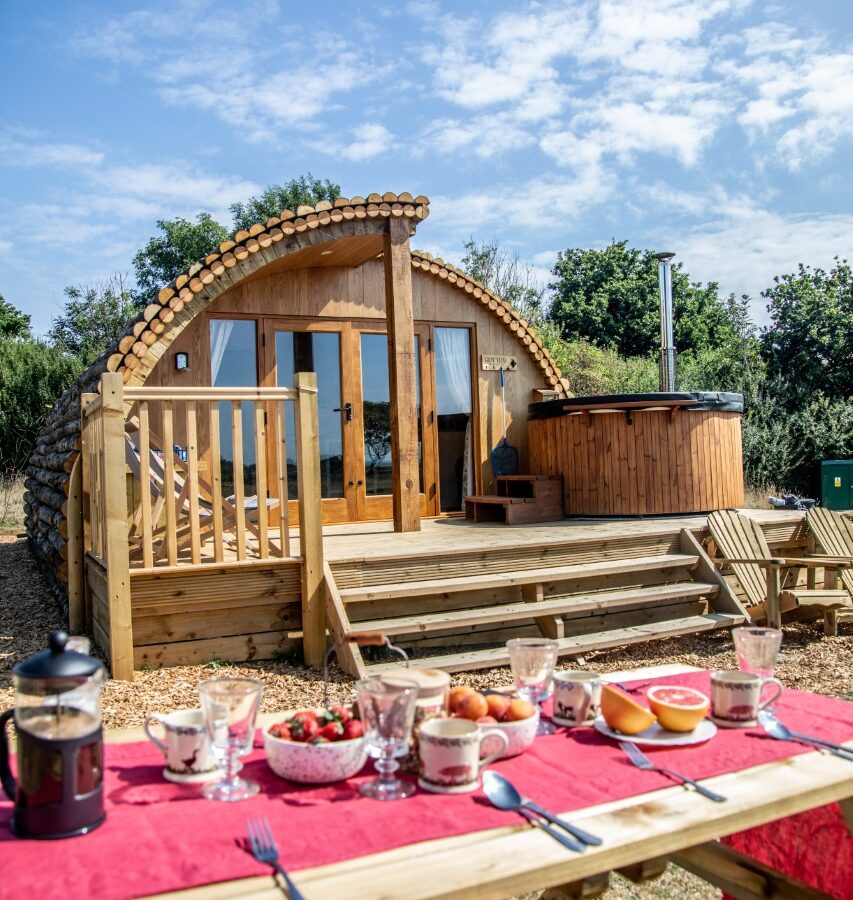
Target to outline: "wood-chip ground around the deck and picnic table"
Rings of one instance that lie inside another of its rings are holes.
[[[26,543],[15,535],[0,535],[0,710],[14,702],[10,670],[19,660],[44,648],[47,634],[64,624],[58,606],[37,572]],[[842,621],[839,636],[823,636],[820,623],[785,627],[783,651],[776,670],[788,687],[853,699],[853,622]],[[703,668],[736,668],[731,638],[724,632],[687,635],[666,641],[635,644],[620,650],[591,653],[586,668],[599,671],[636,669],[665,663]],[[227,667],[227,668],[226,668]],[[561,668],[577,668],[565,663]],[[198,705],[198,682],[226,669],[229,673],[263,678],[263,709],[267,712],[322,702],[322,675],[284,662],[230,665],[216,661],[198,666],[136,673],[136,680],[110,681],[104,689],[104,724],[108,728],[140,725],[146,712],[169,712]],[[510,681],[506,667],[455,676],[455,683],[494,686]],[[352,696],[352,679],[333,667],[329,696]],[[537,895],[531,895],[537,896]],[[606,900],[678,898],[710,900],[720,892],[688,873],[669,866],[658,880],[635,885],[613,876]]]

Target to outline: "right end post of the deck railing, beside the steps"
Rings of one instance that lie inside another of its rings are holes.
[[[320,666],[326,652],[326,587],[320,506],[320,436],[317,376],[296,374],[299,549],[302,554],[302,644],[305,663]]]

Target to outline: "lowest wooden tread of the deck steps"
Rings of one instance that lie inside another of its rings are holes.
[[[741,625],[744,620],[744,616],[736,616],[730,613],[706,613],[701,616],[670,619],[666,622],[632,625],[627,628],[616,628],[612,631],[599,631],[594,634],[560,638],[557,643],[560,647],[560,656],[580,656],[592,650],[608,650],[611,647],[621,647],[625,644],[639,644],[643,641],[676,637],[682,634],[695,634],[698,631],[732,628],[735,625]],[[417,660],[418,665],[428,665],[433,669],[444,669],[446,672],[488,669],[492,666],[503,666],[508,663],[509,654],[506,647],[469,650],[445,656],[426,656]],[[367,671],[371,675],[381,675],[382,672],[399,668],[400,663],[397,661],[367,666]]]

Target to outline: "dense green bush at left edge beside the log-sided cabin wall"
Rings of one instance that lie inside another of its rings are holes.
[[[61,348],[0,338],[0,473],[23,469],[48,411],[81,369]]]

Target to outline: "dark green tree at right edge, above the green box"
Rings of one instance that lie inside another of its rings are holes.
[[[770,325],[761,348],[771,376],[796,373],[789,382],[789,405],[821,392],[853,397],[853,273],[835,258],[826,272],[800,264],[795,275],[773,279],[763,293]]]

